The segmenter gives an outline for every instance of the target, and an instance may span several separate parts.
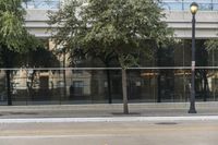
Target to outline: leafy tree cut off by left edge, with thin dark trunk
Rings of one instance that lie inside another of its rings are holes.
[[[24,27],[25,11],[22,0],[0,1],[0,48],[1,65],[7,70],[8,105],[12,105],[10,68],[13,67],[13,52],[26,52],[37,46],[34,36]]]

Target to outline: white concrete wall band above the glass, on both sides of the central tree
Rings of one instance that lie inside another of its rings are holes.
[[[53,10],[57,11],[57,10]],[[174,29],[175,37],[191,38],[192,15],[189,11],[166,11],[167,19],[164,20],[169,27]],[[49,25],[47,10],[27,10],[26,27],[37,37],[49,37]],[[218,37],[218,12],[198,12],[196,14],[196,37]]]

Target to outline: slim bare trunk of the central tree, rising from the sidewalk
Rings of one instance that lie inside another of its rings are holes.
[[[122,69],[122,92],[123,92],[123,113],[129,113],[128,108],[128,87],[126,87],[126,70]]]

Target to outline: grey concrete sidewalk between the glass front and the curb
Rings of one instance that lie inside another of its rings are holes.
[[[196,102],[196,114],[187,113],[189,107],[189,102],[130,104],[130,114],[123,114],[122,104],[0,106],[0,119],[218,116],[218,101]]]

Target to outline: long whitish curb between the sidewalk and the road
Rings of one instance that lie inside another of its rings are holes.
[[[149,121],[218,121],[218,116],[0,119],[0,123],[71,123],[71,122],[80,123],[80,122],[149,122]]]

